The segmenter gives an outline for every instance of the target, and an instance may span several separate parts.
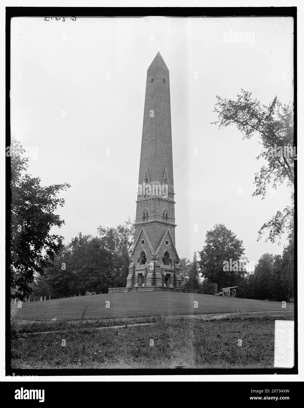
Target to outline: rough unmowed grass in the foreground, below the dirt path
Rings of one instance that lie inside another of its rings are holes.
[[[264,314],[13,323],[11,367],[273,368],[275,319],[293,320],[293,312]],[[133,322],[150,325],[127,326]]]

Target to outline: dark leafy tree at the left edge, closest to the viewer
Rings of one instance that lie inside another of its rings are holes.
[[[34,273],[43,274],[62,247],[63,237],[50,234],[50,229],[64,224],[54,211],[64,204],[57,193],[70,186],[40,186],[39,177],[25,173],[28,159],[22,156],[24,149],[12,138],[7,151],[11,160],[11,297],[24,300],[32,292]]]

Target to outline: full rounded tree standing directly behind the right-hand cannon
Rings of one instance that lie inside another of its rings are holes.
[[[241,261],[244,258],[243,241],[228,230],[224,224],[216,224],[214,229],[207,231],[205,246],[199,251],[202,277],[211,283],[217,284],[217,292],[221,287],[235,286],[237,278],[245,271],[237,268],[233,271],[224,271],[224,261]],[[233,268],[235,269],[235,268]]]

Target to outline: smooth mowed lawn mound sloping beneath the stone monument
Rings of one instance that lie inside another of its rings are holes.
[[[197,308],[194,306],[197,302]],[[109,307],[106,307],[109,306]],[[11,306],[12,316],[24,320],[53,318],[78,320],[161,315],[193,315],[208,313],[262,312],[293,310],[294,305],[281,302],[241,299],[193,293],[146,292],[108,293],[86,297],[57,299]]]

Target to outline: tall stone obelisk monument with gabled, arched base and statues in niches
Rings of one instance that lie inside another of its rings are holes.
[[[158,52],[146,78],[135,242],[126,288],[181,287],[174,204],[169,69]]]

